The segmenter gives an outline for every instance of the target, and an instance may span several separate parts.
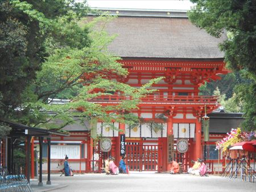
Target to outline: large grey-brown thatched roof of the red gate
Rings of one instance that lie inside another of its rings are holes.
[[[171,13],[172,14],[172,13]],[[218,44],[226,39],[210,36],[187,17],[118,16],[106,26],[118,37],[109,50],[120,57],[166,59],[219,59]]]

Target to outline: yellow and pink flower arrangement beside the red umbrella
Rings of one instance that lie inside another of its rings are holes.
[[[256,136],[255,132],[241,132],[241,128],[232,129],[228,136],[224,137],[221,141],[216,142],[216,149],[222,149],[225,152],[231,145],[236,144],[241,141],[249,141]]]

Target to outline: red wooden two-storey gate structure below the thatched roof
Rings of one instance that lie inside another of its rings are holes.
[[[142,86],[152,78],[164,77],[164,80],[153,85],[158,89],[153,94],[141,99],[138,110],[130,112],[148,121],[164,123],[158,115],[166,116],[164,132],[154,133],[141,124],[135,132],[129,125],[114,123],[115,127],[123,130],[126,135],[127,164],[131,170],[167,170],[170,157],[181,162],[186,170],[191,160],[202,158],[203,141],[201,139],[201,118],[204,116],[204,107],[207,113],[218,107],[217,97],[200,96],[199,86],[209,79],[217,80],[217,74],[225,74],[224,62],[220,61],[159,61],[159,60],[121,60],[118,61],[127,68],[129,75],[117,78],[118,81],[130,86]],[[113,77],[114,78],[114,77]],[[92,99],[94,103],[102,106],[116,105],[129,97],[122,97],[118,93],[104,95]],[[114,137],[115,143],[120,141],[118,132],[106,132],[108,127],[98,126],[98,133],[103,136]],[[105,133],[102,132],[105,130]],[[111,134],[110,134],[111,133]],[[109,135],[110,134],[110,135]],[[123,133],[122,133],[123,134]],[[150,135],[151,134],[151,135]],[[174,135],[174,151],[168,155],[167,137]],[[187,138],[188,151],[178,153],[176,150],[177,139]],[[114,156],[119,157],[119,145],[115,145]],[[113,155],[113,154],[112,154]],[[118,164],[118,160],[115,163]]]

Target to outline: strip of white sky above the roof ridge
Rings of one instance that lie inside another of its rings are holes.
[[[189,0],[88,0],[90,7],[113,9],[190,10]]]

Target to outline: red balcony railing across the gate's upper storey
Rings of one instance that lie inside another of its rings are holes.
[[[97,98],[90,99],[89,101],[95,103],[119,103],[123,100],[131,100],[129,96],[120,96],[120,95],[102,95]],[[208,105],[217,105],[216,96],[172,96],[172,95],[147,95],[146,97],[141,98],[140,103],[159,103],[159,104],[204,104]]]

